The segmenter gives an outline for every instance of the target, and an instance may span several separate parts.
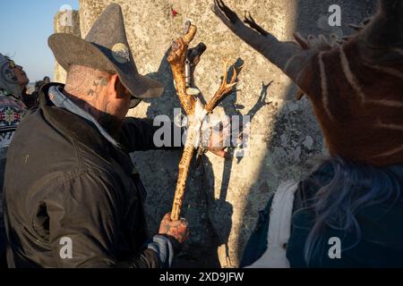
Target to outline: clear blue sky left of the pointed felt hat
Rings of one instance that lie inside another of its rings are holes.
[[[64,4],[79,8],[79,0],[0,0],[0,53],[22,65],[31,82],[46,75],[53,79],[55,59],[47,37]]]

